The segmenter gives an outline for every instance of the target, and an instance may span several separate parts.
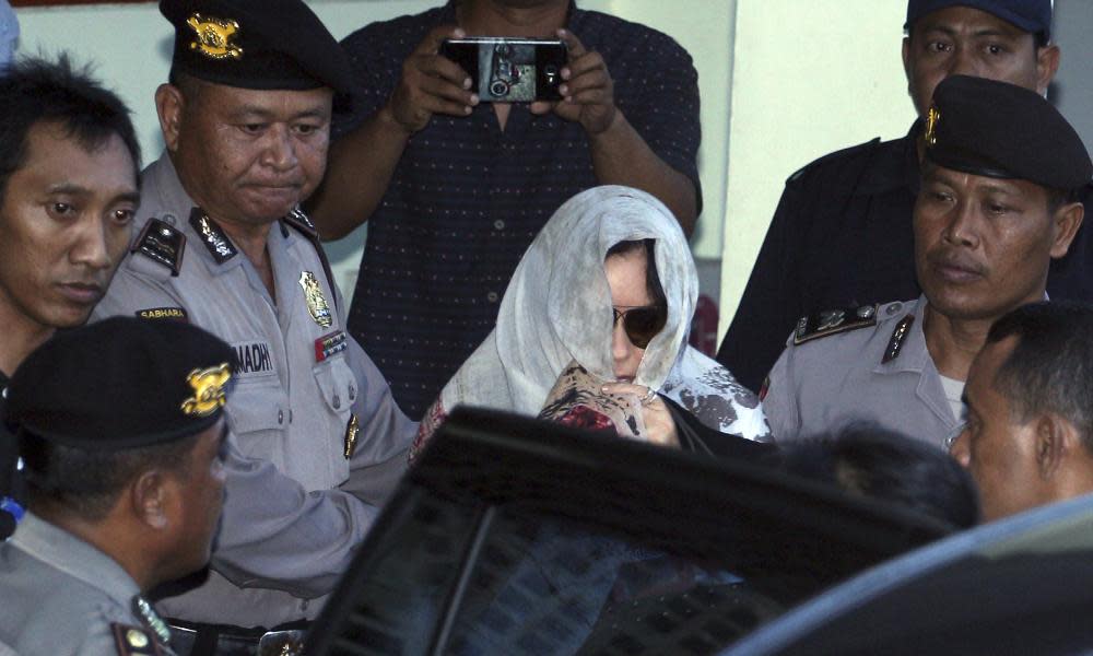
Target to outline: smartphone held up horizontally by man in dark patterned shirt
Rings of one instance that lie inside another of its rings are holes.
[[[471,78],[471,89],[485,103],[561,101],[562,68],[568,50],[560,39],[475,36],[448,38],[440,55]]]

